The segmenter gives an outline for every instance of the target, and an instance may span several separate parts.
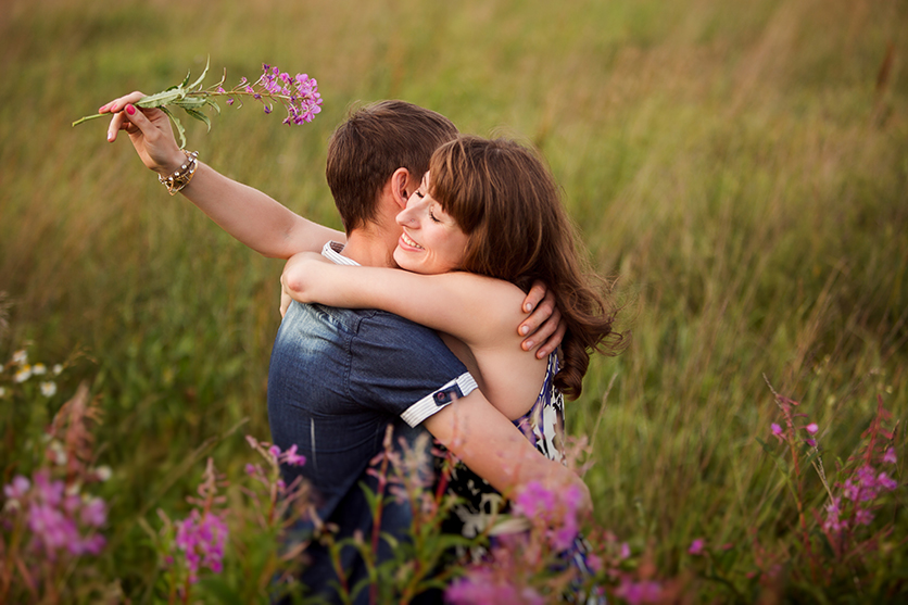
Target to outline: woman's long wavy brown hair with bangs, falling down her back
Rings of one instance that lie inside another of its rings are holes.
[[[589,270],[559,189],[542,159],[506,139],[461,136],[432,155],[429,192],[469,236],[463,270],[554,293],[567,324],[555,385],[570,399],[582,390],[590,354],[616,354],[616,306]]]

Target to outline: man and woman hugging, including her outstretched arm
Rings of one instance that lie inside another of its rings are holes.
[[[447,489],[462,497],[446,530],[484,531],[501,494],[531,481],[576,490],[581,513],[592,511],[564,465],[564,396],[580,393],[591,352],[615,352],[620,335],[533,151],[458,135],[403,101],[358,109],[328,148],[341,234],[198,162],[161,110],[135,106],[141,97],[101,108],[112,114],[108,140],[125,130],[172,193],[253,250],[288,260],[268,420],[274,443],[306,458],[285,465],[285,481],[311,484],[338,538],[371,532],[360,483],[376,489],[366,470],[388,426],[395,446],[428,431],[459,461]],[[405,539],[411,521],[408,506],[390,502],[381,529]],[[337,602],[327,550],[314,542],[306,553],[301,580]],[[355,585],[363,560],[353,547],[342,554]]]

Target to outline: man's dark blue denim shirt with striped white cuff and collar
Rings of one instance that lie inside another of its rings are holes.
[[[338,245],[326,244],[323,254],[355,265]],[[295,444],[306,463],[281,468],[283,480],[302,476],[312,484],[319,518],[338,525],[339,537],[356,529],[368,535],[371,515],[358,483],[373,483],[365,470],[386,427],[412,439],[411,427],[474,389],[472,376],[433,330],[383,311],[293,302],[272,351],[268,421],[274,443],[282,451]],[[387,513],[389,524],[402,526],[398,532],[409,525],[406,508],[396,520]],[[312,583],[333,574],[323,567],[326,553],[313,546],[304,581],[317,588]]]

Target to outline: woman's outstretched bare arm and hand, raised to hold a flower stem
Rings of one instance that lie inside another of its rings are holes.
[[[113,142],[121,129],[126,130],[148,168],[162,176],[172,175],[186,156],[164,112],[134,104],[142,97],[141,92],[133,92],[99,110],[113,116],[108,140]],[[265,256],[289,259],[297,252],[319,251],[328,240],[346,241],[342,232],[307,220],[262,191],[229,179],[201,162],[180,192],[225,231]]]

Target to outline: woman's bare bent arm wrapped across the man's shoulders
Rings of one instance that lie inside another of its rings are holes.
[[[336,265],[313,253],[293,255],[280,277],[289,298],[346,308],[381,308],[474,346],[517,340],[525,294],[475,274],[419,275],[402,269]]]

